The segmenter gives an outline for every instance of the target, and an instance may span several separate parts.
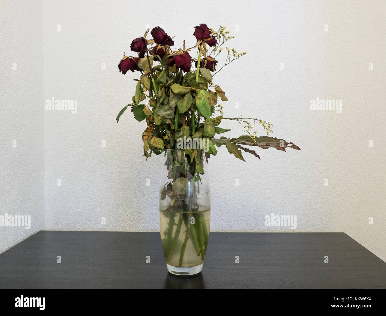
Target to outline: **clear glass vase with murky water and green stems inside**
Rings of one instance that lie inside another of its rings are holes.
[[[210,189],[201,149],[166,149],[159,189],[159,226],[168,271],[201,272],[208,247]]]

